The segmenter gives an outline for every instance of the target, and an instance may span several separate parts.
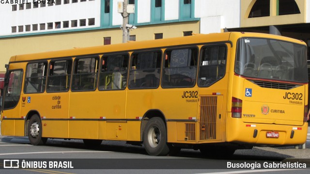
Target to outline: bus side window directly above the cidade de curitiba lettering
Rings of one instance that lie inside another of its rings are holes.
[[[68,91],[71,81],[72,60],[50,61],[47,92]]]

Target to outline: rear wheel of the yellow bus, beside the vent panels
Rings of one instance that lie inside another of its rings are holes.
[[[143,132],[146,152],[152,156],[166,156],[169,153],[167,131],[164,121],[159,117],[151,118]]]

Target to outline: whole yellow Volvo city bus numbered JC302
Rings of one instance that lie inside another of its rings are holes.
[[[225,32],[18,55],[6,65],[1,134],[233,154],[304,144],[307,46]]]

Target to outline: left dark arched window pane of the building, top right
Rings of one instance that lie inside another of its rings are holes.
[[[270,16],[270,0],[256,0],[248,18]]]

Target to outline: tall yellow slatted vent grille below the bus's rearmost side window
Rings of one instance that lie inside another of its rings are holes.
[[[200,96],[200,140],[217,139],[217,96]]]

